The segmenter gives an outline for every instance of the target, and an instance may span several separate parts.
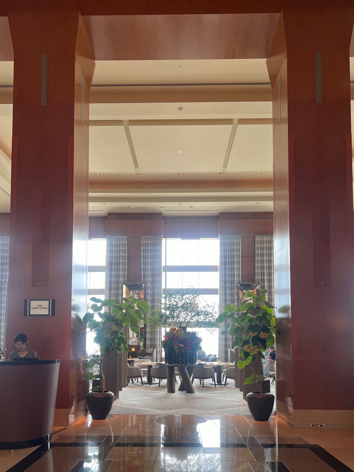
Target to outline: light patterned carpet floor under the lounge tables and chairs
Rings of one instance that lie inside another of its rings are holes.
[[[228,386],[214,387],[209,382],[204,387],[194,380],[195,394],[167,393],[166,380],[157,385],[129,384],[119,392],[111,414],[195,414],[195,415],[244,415],[249,414],[242,392],[231,382]],[[257,391],[257,388],[255,388]],[[275,395],[275,385],[271,386]],[[273,411],[273,414],[275,410]]]

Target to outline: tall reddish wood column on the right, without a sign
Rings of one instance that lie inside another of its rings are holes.
[[[277,409],[295,425],[354,425],[353,21],[352,8],[283,9],[267,59]]]

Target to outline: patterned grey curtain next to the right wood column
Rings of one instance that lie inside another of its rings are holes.
[[[255,281],[261,290],[267,289],[266,298],[274,305],[274,259],[273,235],[256,235],[255,239]]]

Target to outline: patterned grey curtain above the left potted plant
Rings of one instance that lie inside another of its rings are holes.
[[[126,236],[107,236],[106,279],[104,296],[106,299],[122,302],[123,284],[127,281],[128,245]]]

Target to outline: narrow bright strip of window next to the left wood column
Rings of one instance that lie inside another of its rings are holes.
[[[87,280],[87,310],[93,302],[90,301],[92,296],[104,298],[104,281],[105,281],[105,265],[106,265],[106,239],[89,239],[87,243],[87,264],[88,264],[88,280]],[[86,352],[92,354],[94,350],[93,333],[88,332],[86,335]]]

